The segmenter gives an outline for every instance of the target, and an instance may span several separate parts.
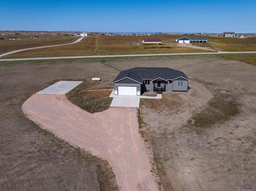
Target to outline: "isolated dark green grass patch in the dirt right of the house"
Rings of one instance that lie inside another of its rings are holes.
[[[195,114],[192,119],[194,120],[194,126],[208,128],[217,122],[223,123],[236,114],[239,114],[236,105],[219,98],[212,98],[208,102],[208,107]]]

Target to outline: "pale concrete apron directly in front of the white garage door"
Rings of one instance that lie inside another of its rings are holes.
[[[139,107],[140,96],[114,95],[110,107]]]

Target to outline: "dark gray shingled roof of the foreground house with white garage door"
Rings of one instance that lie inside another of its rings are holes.
[[[132,68],[128,70],[121,71],[116,79],[112,83],[116,83],[122,79],[132,79],[134,81],[137,81],[138,83],[143,83],[143,79],[151,79],[155,80],[158,78],[162,78],[164,80],[174,80],[179,77],[182,77],[184,79],[187,79],[190,81],[190,79],[184,74],[182,71],[170,69],[170,68]]]

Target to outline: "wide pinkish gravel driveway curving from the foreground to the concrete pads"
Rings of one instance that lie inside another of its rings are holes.
[[[158,190],[150,172],[152,156],[138,131],[136,108],[110,108],[90,114],[64,95],[36,94],[22,110],[42,128],[108,160],[122,191]]]

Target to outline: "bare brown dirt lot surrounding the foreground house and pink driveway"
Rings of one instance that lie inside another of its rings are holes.
[[[143,135],[151,145],[163,190],[242,190],[246,183],[255,190],[255,66],[214,55],[105,61],[105,65],[99,59],[0,63],[0,189],[100,190],[98,165],[28,120],[21,110],[23,102],[56,79],[100,77],[102,81],[94,84],[100,89],[111,87],[119,73],[116,69],[170,67],[190,77],[191,94],[167,93],[161,101],[144,101],[140,106],[146,123]],[[240,113],[196,126],[193,116],[207,110],[212,98],[232,103]]]

